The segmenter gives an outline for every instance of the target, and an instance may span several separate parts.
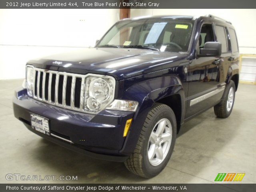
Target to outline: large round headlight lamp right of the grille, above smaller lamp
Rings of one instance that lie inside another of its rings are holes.
[[[90,83],[89,91],[98,102],[104,102],[109,97],[110,86],[104,79],[96,78]]]

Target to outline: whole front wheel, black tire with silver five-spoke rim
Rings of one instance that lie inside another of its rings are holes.
[[[172,109],[164,104],[155,104],[146,117],[133,154],[124,162],[126,168],[145,178],[159,174],[172,155],[176,127]]]

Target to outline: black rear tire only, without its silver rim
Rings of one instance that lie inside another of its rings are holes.
[[[227,84],[223,96],[222,96],[222,101],[214,106],[214,113],[218,118],[227,118],[230,116],[233,106],[234,106],[234,100],[232,102],[231,109],[228,111],[227,109],[227,102],[228,102],[228,93],[230,89],[233,88],[234,90],[234,100],[235,100],[235,94],[236,94],[236,86],[234,81],[230,80],[229,84]]]

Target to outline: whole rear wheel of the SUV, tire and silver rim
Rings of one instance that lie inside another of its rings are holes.
[[[226,86],[223,100],[214,106],[214,113],[219,118],[227,118],[230,116],[235,100],[235,90],[236,86],[234,81],[230,80],[229,84]]]

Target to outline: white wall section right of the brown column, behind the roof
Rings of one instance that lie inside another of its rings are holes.
[[[131,17],[146,15],[212,14],[232,22],[236,28],[239,50],[243,54],[256,54],[256,9],[132,9]]]

